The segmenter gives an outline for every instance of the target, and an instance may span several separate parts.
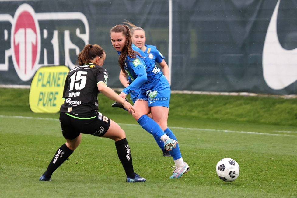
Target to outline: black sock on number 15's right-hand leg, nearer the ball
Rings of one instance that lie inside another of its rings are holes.
[[[134,178],[135,173],[132,165],[132,156],[128,141],[126,138],[116,141],[117,155],[124,167],[126,175]]]

